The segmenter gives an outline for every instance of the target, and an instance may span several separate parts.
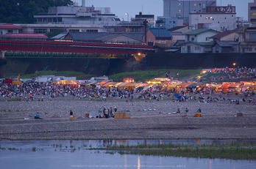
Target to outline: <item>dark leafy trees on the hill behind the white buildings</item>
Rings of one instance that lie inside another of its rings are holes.
[[[0,23],[34,23],[49,7],[71,6],[71,0],[0,0]]]

